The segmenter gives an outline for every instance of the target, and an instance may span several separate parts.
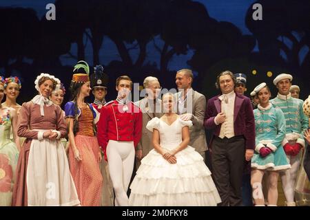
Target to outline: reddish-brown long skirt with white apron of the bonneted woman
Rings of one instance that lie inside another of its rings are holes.
[[[68,159],[60,140],[25,142],[19,155],[14,206],[77,206],[80,204]]]

